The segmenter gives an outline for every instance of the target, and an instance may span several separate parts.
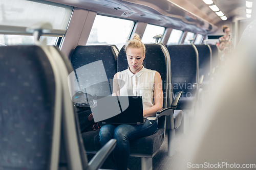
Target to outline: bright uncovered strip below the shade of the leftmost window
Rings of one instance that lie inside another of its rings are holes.
[[[47,45],[55,45],[58,37],[40,37],[40,40],[46,38]],[[27,35],[1,35],[0,43],[5,45],[33,45],[34,37]]]

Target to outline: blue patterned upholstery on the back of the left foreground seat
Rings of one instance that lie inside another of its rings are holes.
[[[38,46],[0,46],[0,169],[51,163],[55,79]]]

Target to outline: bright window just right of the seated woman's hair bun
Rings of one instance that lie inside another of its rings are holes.
[[[165,28],[160,26],[154,26],[151,24],[148,24],[146,26],[145,32],[142,36],[141,41],[143,43],[155,43],[156,40],[153,39],[154,36],[158,34],[164,34]]]

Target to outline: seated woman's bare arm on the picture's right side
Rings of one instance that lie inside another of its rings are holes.
[[[156,112],[163,108],[162,79],[159,72],[156,72],[154,79],[154,103],[153,107],[143,111],[144,117],[155,116]]]

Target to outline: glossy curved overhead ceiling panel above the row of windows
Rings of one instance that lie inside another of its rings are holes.
[[[163,27],[173,27],[202,34],[217,30],[220,17],[202,0],[47,0],[109,15],[122,16],[133,11],[129,18]],[[245,0],[243,0],[245,3]],[[229,3],[227,3],[229,2]],[[229,18],[241,8],[240,0],[214,0]],[[228,8],[225,6],[227,4]],[[223,9],[222,9],[223,8]]]

